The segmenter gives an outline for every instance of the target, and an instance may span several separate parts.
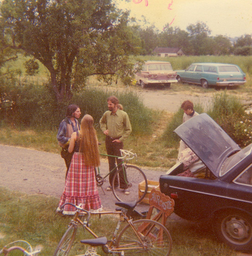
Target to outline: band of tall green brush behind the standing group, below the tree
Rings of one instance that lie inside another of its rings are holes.
[[[107,98],[116,95],[129,114],[133,133],[150,132],[151,111],[132,92],[108,92],[86,88],[75,93],[69,102],[56,103],[54,94],[46,87],[33,84],[16,86],[5,83],[0,87],[0,118],[15,126],[36,129],[57,129],[64,119],[68,104],[80,106],[82,116],[90,114],[98,128],[99,119],[108,110]]]

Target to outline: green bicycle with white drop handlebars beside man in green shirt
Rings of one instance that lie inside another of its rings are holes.
[[[119,158],[122,160],[122,162],[120,162],[118,165],[116,164],[115,167],[111,170],[111,172],[109,172],[107,175],[105,175],[104,177],[102,177],[102,175],[100,174],[100,169],[99,168],[95,168],[95,179],[97,182],[97,186],[102,187],[102,185],[104,184],[104,182],[106,181],[106,178],[114,173],[114,177],[112,179],[112,191],[113,194],[115,196],[115,198],[118,201],[137,201],[137,203],[139,203],[140,201],[142,201],[142,199],[145,197],[146,193],[147,193],[147,189],[148,189],[148,184],[147,184],[147,178],[144,174],[144,172],[138,168],[135,165],[129,165],[127,162],[135,157],[137,157],[136,154],[132,153],[131,151],[127,151],[127,150],[120,150],[121,152],[121,157],[118,156],[111,156],[111,155],[106,155],[106,154],[100,154],[102,156],[110,156],[110,157],[115,157],[115,158]],[[123,177],[124,177],[124,181],[125,183],[128,185],[127,189],[129,190],[130,194],[129,195],[125,195],[123,192],[123,189],[120,189],[119,187],[115,186],[115,184],[118,184],[116,182],[116,179],[118,179],[118,175],[119,175],[119,167],[121,166],[121,172],[123,172]],[[140,182],[144,181],[145,182],[145,188],[142,191],[143,194],[139,197],[138,195],[138,185]],[[102,188],[103,189],[103,188]],[[104,190],[103,190],[104,192]]]

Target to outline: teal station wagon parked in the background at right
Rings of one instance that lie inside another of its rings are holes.
[[[177,70],[177,80],[209,86],[240,86],[246,82],[245,73],[237,65],[225,63],[192,63],[186,70]]]

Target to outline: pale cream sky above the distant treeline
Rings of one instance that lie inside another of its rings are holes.
[[[166,24],[186,31],[190,24],[204,22],[211,35],[252,35],[252,0],[115,0],[131,16],[145,16],[160,31]]]

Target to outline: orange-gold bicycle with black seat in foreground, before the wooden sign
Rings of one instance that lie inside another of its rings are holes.
[[[171,251],[172,239],[169,231],[161,223],[153,220],[138,219],[133,221],[132,218],[142,218],[142,214],[136,211],[135,202],[117,202],[117,206],[121,207],[115,211],[102,211],[92,212],[81,208],[71,203],[66,203],[74,206],[77,211],[73,219],[70,221],[66,232],[61,238],[54,256],[67,256],[75,235],[77,233],[78,225],[83,227],[83,230],[87,230],[94,239],[81,240],[81,243],[90,246],[102,246],[105,253],[112,253],[113,255],[159,255],[168,256]],[[64,204],[64,205],[66,205]],[[62,205],[62,208],[64,207]],[[83,214],[84,212],[84,214]],[[117,226],[113,232],[113,237],[110,241],[106,237],[98,237],[97,234],[90,228],[89,219],[91,215],[119,215]],[[81,218],[85,216],[84,221]],[[117,235],[121,223],[126,222],[126,225],[121,229]],[[84,253],[82,254],[84,255]],[[88,255],[88,253],[86,253]]]

